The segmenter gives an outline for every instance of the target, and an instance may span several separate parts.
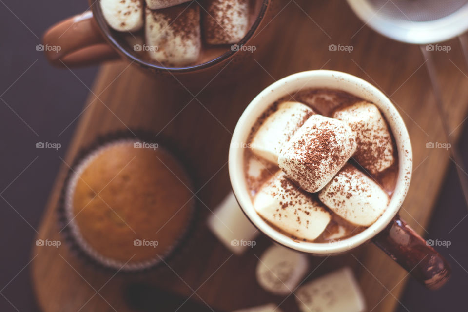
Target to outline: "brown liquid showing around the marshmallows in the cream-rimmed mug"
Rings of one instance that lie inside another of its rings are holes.
[[[248,144],[252,142],[252,139],[260,125],[268,116],[276,111],[278,105],[284,101],[301,102],[311,107],[316,113],[331,117],[336,110],[350,106],[361,100],[363,99],[355,97],[349,93],[332,89],[306,89],[298,91],[295,94],[292,93],[291,95],[280,98],[272,103],[272,105],[265,111],[265,113],[263,113],[262,116],[257,119],[254,126],[252,127],[247,142]],[[390,127],[388,128],[390,129]],[[395,139],[393,137],[392,141],[394,145],[393,150],[395,158],[393,165],[378,175],[371,176],[389,194],[390,197],[393,195],[398,177],[398,153],[395,146]],[[273,164],[254,155],[251,149],[245,149],[244,157],[245,177],[247,186],[249,188],[249,194],[253,199],[263,183],[269,180],[280,168],[277,164]],[[352,159],[348,162],[357,165]],[[253,175],[253,173],[255,173],[255,175]],[[313,195],[315,196],[315,194]],[[316,198],[318,200],[318,197]],[[334,240],[332,235],[338,234],[340,231],[344,231],[344,236],[340,238],[344,239],[352,235],[356,235],[366,229],[366,227],[356,226],[349,223],[339,215],[333,213],[331,210],[329,210],[329,212],[331,213],[331,221],[325,231],[323,231],[323,233],[317,237],[314,242],[330,242],[331,240]],[[269,222],[267,221],[267,223]],[[278,229],[274,226],[272,227],[275,228],[278,232],[286,234],[281,229]],[[289,234],[286,235],[291,236]],[[291,236],[291,238],[297,240],[296,237]]]

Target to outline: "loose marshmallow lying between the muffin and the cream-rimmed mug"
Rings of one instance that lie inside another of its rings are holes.
[[[260,234],[242,212],[233,192],[210,215],[208,228],[234,254],[254,247],[254,238]]]

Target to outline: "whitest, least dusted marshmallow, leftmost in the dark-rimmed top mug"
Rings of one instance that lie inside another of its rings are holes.
[[[100,0],[102,15],[117,31],[143,28],[143,0]]]

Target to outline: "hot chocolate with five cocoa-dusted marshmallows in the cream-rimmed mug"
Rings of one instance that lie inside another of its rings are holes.
[[[278,99],[245,147],[255,211],[294,240],[330,242],[364,231],[396,185],[387,121],[377,106],[342,91],[307,89]]]

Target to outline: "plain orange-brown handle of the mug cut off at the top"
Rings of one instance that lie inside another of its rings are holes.
[[[42,42],[47,60],[57,67],[86,66],[119,58],[102,36],[92,11],[50,27]],[[54,49],[47,49],[48,46]]]

